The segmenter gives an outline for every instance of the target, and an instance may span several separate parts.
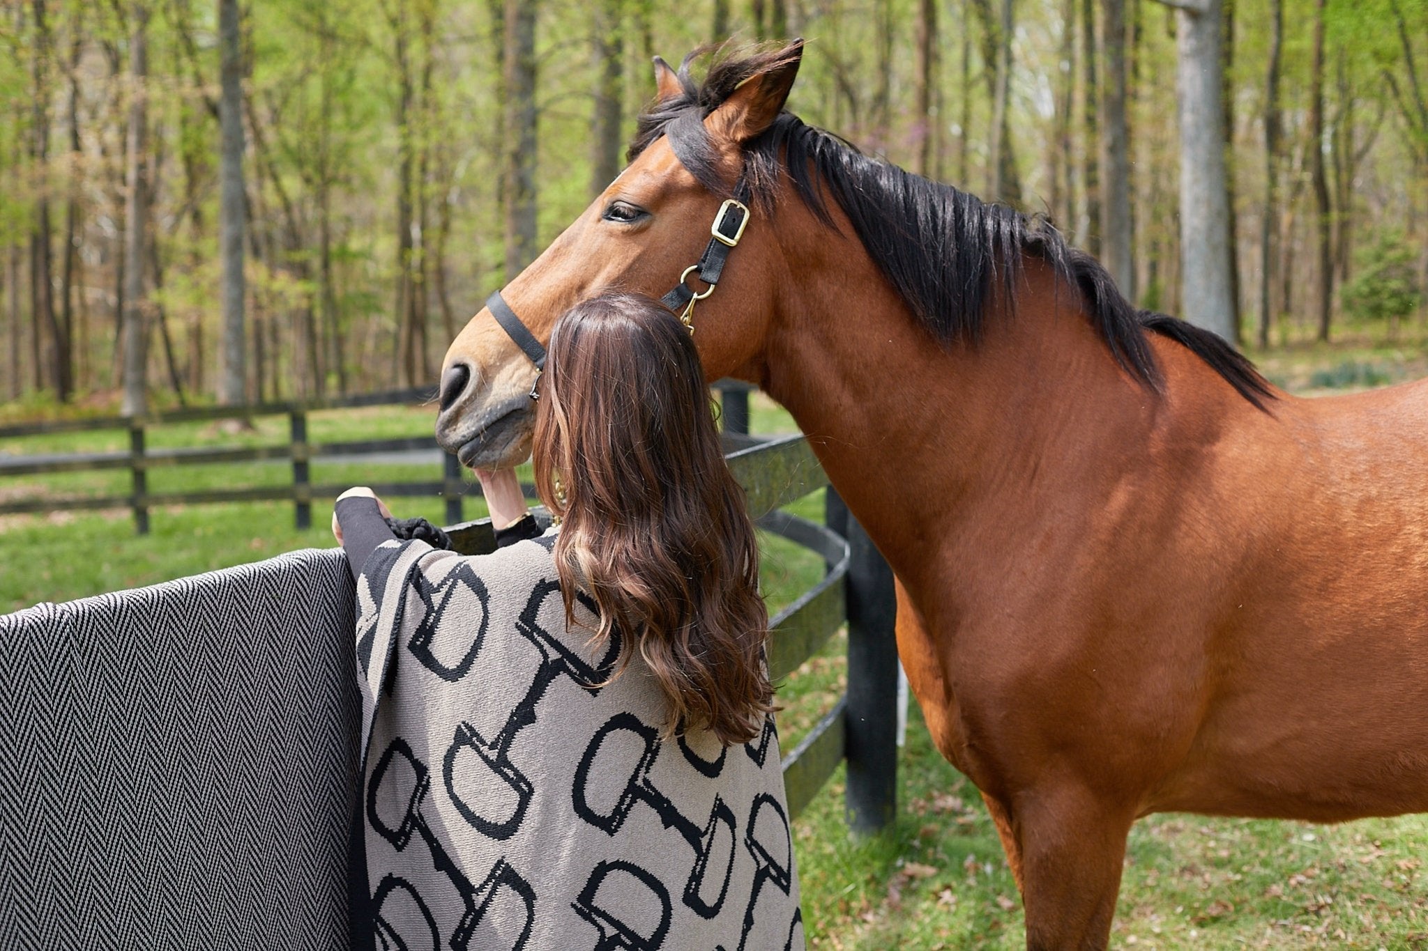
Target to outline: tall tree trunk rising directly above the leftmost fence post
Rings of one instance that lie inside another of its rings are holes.
[[[149,302],[144,298],[144,231],[149,220],[149,9],[133,7],[129,41],[129,195],[124,204],[124,415],[149,411]]]

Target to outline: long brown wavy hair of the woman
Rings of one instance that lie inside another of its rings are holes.
[[[758,545],[720,448],[688,331],[657,301],[605,294],[551,331],[536,413],[536,488],[563,519],[555,566],[600,609],[668,701],[665,736],[708,729],[725,744],[773,710]],[[558,483],[557,483],[558,479]]]

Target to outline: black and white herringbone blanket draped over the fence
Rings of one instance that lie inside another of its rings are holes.
[[[0,616],[0,948],[351,947],[353,600],[306,550]]]

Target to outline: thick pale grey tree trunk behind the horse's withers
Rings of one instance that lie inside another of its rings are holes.
[[[1201,11],[1175,11],[1181,307],[1191,324],[1234,341],[1220,13],[1220,0],[1208,0]]]

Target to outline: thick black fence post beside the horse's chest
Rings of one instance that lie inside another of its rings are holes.
[[[843,508],[848,565],[848,828],[881,831],[897,810],[897,596],[892,569],[843,500],[828,489],[830,515]],[[833,502],[837,499],[837,502]],[[830,522],[830,526],[833,522]]]

